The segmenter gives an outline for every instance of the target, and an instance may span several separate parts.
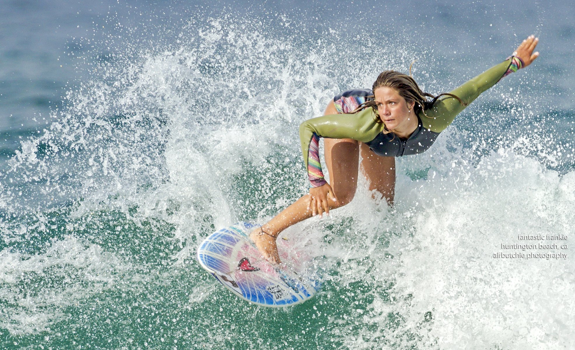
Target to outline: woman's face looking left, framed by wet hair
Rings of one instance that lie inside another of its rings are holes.
[[[409,133],[417,128],[417,117],[413,111],[415,102],[407,103],[393,87],[382,86],[373,91],[379,118],[389,130]]]

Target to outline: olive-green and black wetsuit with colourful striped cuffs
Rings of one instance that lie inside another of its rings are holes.
[[[523,62],[518,57],[509,57],[450,93],[469,105],[501,78],[522,66]],[[346,91],[334,98],[336,110],[347,113],[365,102],[369,96],[373,96],[373,91],[369,89]],[[383,133],[385,124],[371,107],[355,114],[329,114],[303,122],[300,125],[300,141],[310,187],[327,183],[319,159],[320,137],[361,141],[379,156],[414,155],[427,151],[439,133],[447,128],[463,109],[465,106],[458,99],[448,95],[440,97],[430,109],[425,110],[426,116],[421,112],[417,114],[417,128],[408,139],[401,139],[393,133]]]

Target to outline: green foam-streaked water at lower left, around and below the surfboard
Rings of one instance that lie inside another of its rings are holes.
[[[312,302],[268,309],[219,286],[193,252],[177,258],[202,234],[178,240],[168,222],[135,225],[112,210],[62,220],[70,213],[28,218],[32,229],[26,243],[3,243],[2,251],[12,255],[11,261],[3,257],[0,284],[3,314],[9,311],[12,318],[2,330],[7,348],[342,348],[346,339],[358,338],[373,346],[393,345],[397,339],[365,331],[405,327],[400,313],[372,305],[375,299],[394,301],[393,282],[363,279],[374,269],[367,256],[327,268],[329,276]],[[7,220],[6,229],[24,220]],[[325,239],[352,227],[350,220],[339,224],[326,228],[331,233]],[[214,226],[206,220],[202,229]],[[385,248],[385,242],[376,244]],[[343,282],[339,271],[348,266],[356,277]],[[430,324],[431,315],[421,315],[417,329]],[[366,329],[366,318],[378,321]],[[413,344],[420,337],[402,334]]]

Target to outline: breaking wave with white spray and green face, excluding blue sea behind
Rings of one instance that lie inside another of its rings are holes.
[[[2,171],[5,347],[575,346],[569,249],[493,257],[521,234],[572,232],[573,145],[520,127],[535,112],[499,86],[460,117],[476,126],[456,123],[430,151],[397,160],[393,208],[360,179],[350,205],[286,230],[317,256],[314,299],[269,310],[217,286],[196,245],[305,193],[298,124],[381,70],[421,55],[437,63],[404,33],[354,41],[289,16],[227,14],[180,29],[153,49],[128,36],[124,54],[94,63],[90,82]],[[493,120],[510,121],[485,128]]]

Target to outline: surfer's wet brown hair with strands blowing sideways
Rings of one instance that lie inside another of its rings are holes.
[[[410,71],[411,71],[411,67],[410,67]],[[417,86],[417,83],[415,82],[415,80],[406,74],[397,72],[397,71],[385,71],[385,72],[381,72],[381,74],[379,74],[379,76],[377,77],[377,79],[375,79],[375,82],[373,83],[373,87],[371,88],[371,91],[375,91],[375,89],[377,89],[378,87],[391,87],[395,90],[397,90],[397,92],[399,93],[399,95],[401,97],[403,97],[405,99],[405,101],[407,103],[409,102],[415,102],[415,105],[413,105],[413,111],[416,114],[419,114],[419,112],[423,113],[423,115],[425,117],[427,117],[427,115],[425,114],[425,110],[426,109],[431,109],[435,103],[435,101],[437,101],[437,99],[441,96],[447,95],[447,96],[451,96],[453,98],[457,98],[457,100],[463,105],[463,106],[467,106],[467,103],[463,102],[461,98],[459,98],[457,95],[454,94],[450,94],[450,93],[443,93],[443,94],[439,94],[437,96],[434,96],[432,94],[429,93],[424,93],[423,91],[421,91],[421,89],[419,89],[419,86]],[[357,113],[358,111],[361,111],[363,109],[366,109],[367,107],[372,107],[375,113],[375,116],[377,116],[377,122],[382,122],[381,119],[379,118],[379,114],[377,112],[377,104],[374,101],[375,95],[371,95],[368,97],[368,100],[366,102],[363,102],[361,105],[359,105],[355,110],[351,111],[350,113]],[[431,100],[428,100],[427,98],[431,97]],[[391,132],[391,130],[388,130],[387,128],[385,129],[386,132]],[[385,132],[384,131],[384,132]]]

